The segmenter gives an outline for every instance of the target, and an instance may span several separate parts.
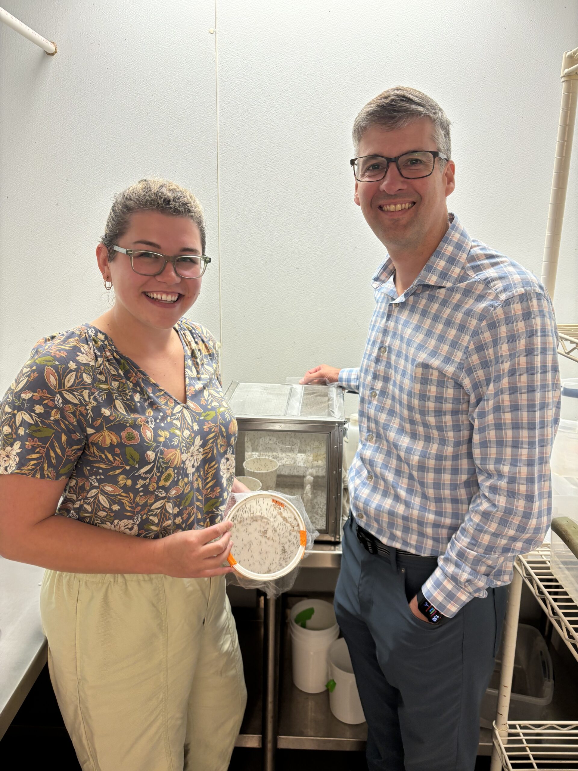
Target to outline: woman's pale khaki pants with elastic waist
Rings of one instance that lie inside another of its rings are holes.
[[[46,571],[40,606],[83,771],[226,771],[247,691],[223,576]]]

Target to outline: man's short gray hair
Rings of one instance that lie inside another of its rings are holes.
[[[361,137],[370,126],[383,126],[388,131],[404,129],[420,118],[429,118],[434,126],[437,149],[452,157],[452,140],[448,116],[431,96],[408,86],[394,86],[368,102],[353,123],[353,146],[358,152]]]

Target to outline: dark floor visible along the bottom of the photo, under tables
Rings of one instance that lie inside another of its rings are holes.
[[[80,771],[45,667],[0,741],[0,769],[32,771],[52,767],[59,771]],[[234,749],[230,769],[260,771],[261,767],[260,749]],[[297,768],[299,771],[365,771],[367,766],[363,752],[277,750],[277,771]],[[489,758],[479,758],[476,771],[489,771]]]

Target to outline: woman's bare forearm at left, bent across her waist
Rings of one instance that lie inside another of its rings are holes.
[[[9,560],[70,573],[154,574],[164,572],[161,540],[55,515],[12,533],[2,554]]]

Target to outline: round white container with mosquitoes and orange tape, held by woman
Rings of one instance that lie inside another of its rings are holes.
[[[227,514],[234,546],[227,557],[234,570],[254,581],[274,581],[297,567],[307,530],[292,503],[271,493],[251,493]]]

